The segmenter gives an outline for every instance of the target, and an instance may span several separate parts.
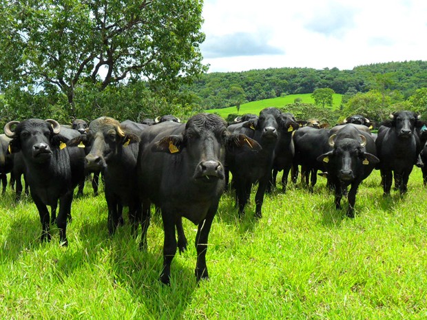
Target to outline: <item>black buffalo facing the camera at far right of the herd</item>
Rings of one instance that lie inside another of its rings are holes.
[[[420,127],[421,116],[413,111],[397,111],[390,114],[390,120],[383,122],[378,129],[375,140],[380,160],[378,169],[381,171],[384,195],[390,194],[393,174],[395,186],[400,193],[408,189],[409,175],[417,162],[422,149],[415,128]]]

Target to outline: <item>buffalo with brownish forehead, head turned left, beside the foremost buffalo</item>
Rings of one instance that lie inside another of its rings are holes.
[[[101,117],[90,122],[85,134],[69,142],[74,146],[82,143],[88,149],[85,157],[87,170],[101,170],[104,173],[110,235],[123,220],[123,206],[129,207],[133,230],[138,228],[140,202],[136,190],[136,158],[141,132],[138,126],[122,127],[113,118]]]

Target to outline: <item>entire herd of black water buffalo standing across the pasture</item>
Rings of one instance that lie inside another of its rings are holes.
[[[235,193],[241,216],[252,186],[258,185],[255,217],[260,218],[264,194],[275,189],[278,171],[283,171],[282,192],[289,172],[293,182],[300,172],[302,183],[313,191],[320,171],[335,195],[335,207],[341,209],[347,195],[346,215],[354,217],[357,189],[374,169],[381,173],[384,196],[390,194],[393,177],[399,192],[407,191],[415,164],[423,170],[426,184],[427,127],[419,114],[393,112],[377,135],[371,128],[372,122],[360,115],[329,129],[318,120],[296,120],[274,107],[258,116],[240,116],[228,125],[215,114],[196,114],[187,122],[163,116],[143,123],[103,116],[90,122],[76,119],[71,126],[52,119],[10,121],[0,135],[0,182],[4,193],[10,173],[19,200],[23,174],[39,211],[41,240],[50,240],[50,224],[56,222],[66,246],[74,189],[79,186],[78,194],[83,192],[85,177],[94,173],[96,194],[101,174],[110,235],[123,224],[127,206],[135,235],[141,226],[144,250],[152,204],[161,212],[164,284],[170,282],[176,249],[187,248],[183,217],[198,226],[195,275],[200,280],[208,277],[208,236],[225,189]]]

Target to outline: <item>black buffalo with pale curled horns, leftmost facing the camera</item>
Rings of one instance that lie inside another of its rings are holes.
[[[61,125],[52,119],[11,121],[6,124],[4,131],[6,136],[12,138],[12,150],[22,152],[25,177],[39,210],[43,230],[41,240],[51,238],[47,206],[52,206],[53,210],[59,200],[56,225],[61,243],[66,246],[67,216],[71,214],[73,191],[84,177],[84,151],[66,148],[67,138],[61,135]],[[75,163],[80,163],[80,167],[72,165],[72,156],[78,158]]]

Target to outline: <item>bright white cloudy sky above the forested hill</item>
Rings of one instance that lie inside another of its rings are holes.
[[[209,72],[427,60],[427,0],[205,0]]]

